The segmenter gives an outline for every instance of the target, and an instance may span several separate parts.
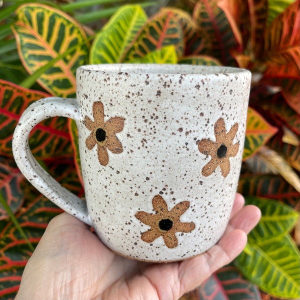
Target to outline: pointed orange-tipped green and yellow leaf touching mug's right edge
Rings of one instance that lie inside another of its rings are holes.
[[[259,150],[277,132],[257,111],[248,107],[243,159]]]

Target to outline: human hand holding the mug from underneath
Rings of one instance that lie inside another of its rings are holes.
[[[229,223],[206,252],[179,262],[148,263],[110,251],[87,225],[62,213],[29,259],[15,300],[177,300],[229,263],[246,244],[260,211],[236,194]]]

